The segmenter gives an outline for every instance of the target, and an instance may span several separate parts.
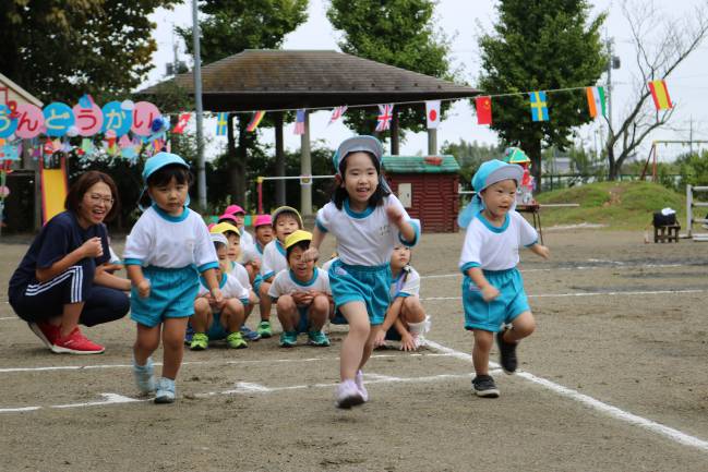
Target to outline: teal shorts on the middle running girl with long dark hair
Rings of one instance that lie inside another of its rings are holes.
[[[329,266],[329,287],[335,308],[349,302],[363,302],[367,305],[369,323],[381,325],[391,302],[391,266],[350,266],[337,259]],[[337,314],[334,324],[345,319]],[[339,322],[339,323],[338,323]],[[345,322],[346,323],[346,322]]]

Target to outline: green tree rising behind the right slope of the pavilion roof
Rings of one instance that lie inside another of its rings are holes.
[[[327,17],[335,29],[343,32],[339,47],[348,55],[452,78],[449,45],[434,29],[434,8],[431,0],[332,0]],[[425,129],[424,106],[394,107],[394,113],[398,114],[401,130]],[[375,114],[371,109],[348,110],[345,123],[358,133],[372,134]]]

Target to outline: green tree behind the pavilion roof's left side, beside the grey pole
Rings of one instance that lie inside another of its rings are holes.
[[[285,35],[308,19],[308,0],[205,0],[200,4],[206,16],[200,21],[201,57],[205,63],[237,55],[244,49],[277,49]],[[192,53],[192,28],[177,28]],[[243,116],[245,117],[245,116]],[[247,173],[251,152],[256,148],[257,134],[247,133],[248,119],[229,114],[227,156],[228,187],[237,202],[245,202]],[[266,120],[261,124],[271,124]]]

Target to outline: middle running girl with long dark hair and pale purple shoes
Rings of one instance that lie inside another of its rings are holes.
[[[337,238],[339,258],[329,267],[336,308],[349,324],[341,343],[335,404],[351,408],[369,400],[362,368],[373,349],[376,329],[388,307],[391,254],[396,244],[413,245],[419,227],[381,173],[383,146],[373,136],[345,140],[334,155],[337,171],[332,202],[317,211],[307,261],[316,261],[327,233]]]

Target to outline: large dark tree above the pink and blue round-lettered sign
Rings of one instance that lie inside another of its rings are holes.
[[[147,19],[178,0],[0,0],[0,71],[43,101],[128,94],[152,69]]]

